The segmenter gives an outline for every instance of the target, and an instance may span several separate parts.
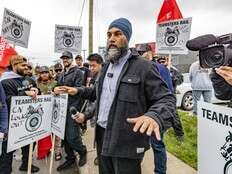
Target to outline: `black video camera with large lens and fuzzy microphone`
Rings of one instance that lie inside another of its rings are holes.
[[[202,68],[232,66],[232,33],[218,37],[212,34],[202,35],[189,40],[186,47],[192,51],[199,51]]]

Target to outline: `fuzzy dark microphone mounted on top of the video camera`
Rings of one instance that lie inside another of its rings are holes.
[[[199,51],[217,42],[218,42],[218,39],[216,36],[212,34],[206,34],[206,35],[199,36],[194,39],[188,40],[186,43],[186,47],[191,51]]]

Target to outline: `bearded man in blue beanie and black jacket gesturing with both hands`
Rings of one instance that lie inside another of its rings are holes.
[[[175,114],[175,97],[154,65],[128,49],[131,23],[113,21],[107,32],[107,64],[93,88],[55,88],[96,102],[96,143],[100,174],[140,174],[151,134]],[[169,123],[169,124],[168,124]],[[139,131],[139,132],[138,132]],[[147,136],[148,135],[148,136]]]

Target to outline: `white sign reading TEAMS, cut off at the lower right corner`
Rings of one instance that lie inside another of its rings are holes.
[[[232,109],[198,103],[198,174],[232,174]]]

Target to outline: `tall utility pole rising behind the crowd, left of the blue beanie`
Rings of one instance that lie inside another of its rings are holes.
[[[89,54],[93,53],[93,0],[89,0]]]

